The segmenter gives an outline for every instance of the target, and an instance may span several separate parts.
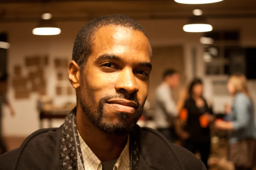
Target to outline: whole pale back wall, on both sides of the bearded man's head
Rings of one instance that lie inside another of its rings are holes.
[[[186,20],[141,20],[138,21],[144,26],[148,33],[153,46],[166,45],[182,45],[184,47],[185,72],[188,79],[192,78],[193,67],[191,63],[191,48],[197,49],[197,76],[205,78],[204,64],[202,60],[203,47],[199,44],[201,33],[186,33],[182,30],[182,26]],[[238,20],[238,19],[218,19],[209,20],[214,29],[239,29],[241,30],[242,45],[256,46],[256,26],[250,23],[256,22],[256,19]],[[51,61],[54,57],[62,56],[71,59],[72,48],[75,36],[78,30],[86,22],[58,22],[61,28],[60,35],[40,36],[33,35],[32,29],[37,23],[0,23],[0,28],[9,35],[9,43],[11,48],[8,51],[8,71],[13,73],[13,66],[24,62],[27,55],[49,54]],[[46,69],[47,78],[47,94],[55,96],[56,77],[53,69],[53,62]],[[23,73],[26,74],[26,73]],[[211,97],[211,79],[206,78],[206,96]],[[253,89],[254,84],[250,87]],[[254,91],[256,94],[256,91]],[[254,95],[255,96],[255,95]],[[36,101],[38,96],[31,95],[28,100],[15,100],[13,88],[9,87],[8,97],[15,108],[16,116],[11,118],[9,110],[5,107],[5,115],[3,117],[3,133],[4,135],[26,136],[39,128],[39,114],[36,109]],[[227,99],[229,97],[227,96]],[[226,101],[226,98],[222,98]],[[75,101],[75,96],[56,97],[55,104],[62,105],[67,100]],[[221,110],[222,106],[217,97],[213,98],[216,110]],[[256,101],[256,100],[255,100]],[[55,121],[55,126],[63,122]]]

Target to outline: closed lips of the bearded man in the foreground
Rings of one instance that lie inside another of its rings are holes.
[[[129,100],[119,99],[119,100],[109,100],[107,103],[115,108],[116,110],[119,110],[121,112],[134,112],[135,109],[138,107],[137,103]]]

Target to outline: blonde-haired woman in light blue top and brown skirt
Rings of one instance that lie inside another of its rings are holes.
[[[216,120],[215,127],[232,130],[228,158],[234,163],[235,170],[251,170],[256,163],[256,128],[247,79],[244,75],[233,75],[227,87],[234,97],[230,121]]]

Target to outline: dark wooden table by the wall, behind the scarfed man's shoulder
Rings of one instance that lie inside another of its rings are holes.
[[[43,128],[43,119],[48,119],[49,128],[52,127],[52,119],[65,119],[73,108],[52,107],[40,111],[40,129]]]

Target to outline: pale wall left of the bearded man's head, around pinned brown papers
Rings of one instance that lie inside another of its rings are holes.
[[[26,56],[49,55],[49,66],[44,69],[44,76],[47,79],[46,92],[54,98],[54,104],[61,106],[65,102],[76,102],[75,96],[56,96],[56,70],[54,69],[54,58],[63,57],[71,59],[72,48],[75,36],[79,27],[70,27],[69,24],[61,25],[62,33],[55,36],[33,35],[32,29],[37,23],[7,23],[1,24],[1,30],[8,32],[11,48],[8,50],[8,72],[13,75],[13,67],[16,64],[24,65]],[[26,76],[26,70],[22,70],[22,75]],[[67,71],[66,71],[67,76]],[[70,84],[69,81],[65,82]],[[11,82],[9,82],[11,85]],[[27,136],[39,129],[39,113],[37,111],[38,94],[33,93],[29,99],[16,100],[14,89],[9,86],[8,98],[13,105],[16,115],[14,118],[9,116],[8,107],[4,107],[3,134],[15,136]],[[59,126],[63,120],[53,122],[53,126]],[[44,122],[47,125],[47,122]],[[46,127],[46,126],[45,126]]]

